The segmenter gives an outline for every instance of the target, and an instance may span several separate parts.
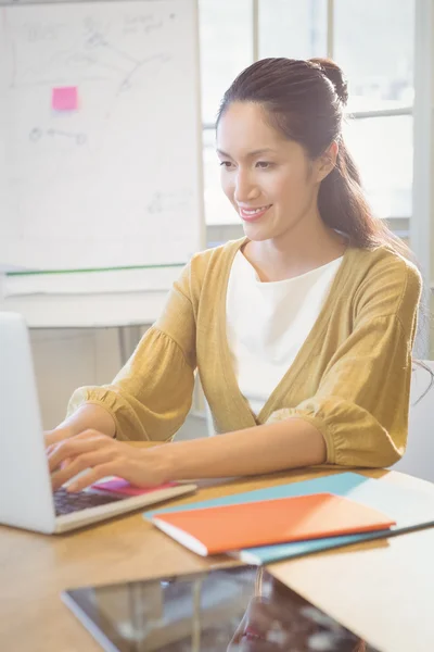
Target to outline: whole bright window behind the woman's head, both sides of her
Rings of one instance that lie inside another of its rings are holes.
[[[200,0],[205,213],[239,223],[222,196],[215,115],[255,59],[331,55],[348,77],[344,137],[374,213],[408,229],[412,191],[414,0]]]

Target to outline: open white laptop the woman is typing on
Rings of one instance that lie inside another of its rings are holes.
[[[0,524],[47,535],[191,493],[174,484],[139,496],[89,488],[51,488],[28,329],[22,315],[0,312]]]

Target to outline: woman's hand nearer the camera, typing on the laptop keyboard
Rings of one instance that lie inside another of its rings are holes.
[[[119,476],[137,487],[155,487],[167,482],[156,449],[138,449],[99,432],[85,430],[48,449],[53,490],[85,472],[68,485],[68,491],[80,491],[105,476]]]

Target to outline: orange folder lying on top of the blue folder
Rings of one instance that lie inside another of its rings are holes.
[[[381,512],[333,493],[192,509],[155,515],[152,522],[203,556],[396,525]]]

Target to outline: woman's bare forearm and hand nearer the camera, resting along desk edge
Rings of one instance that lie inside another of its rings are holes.
[[[321,464],[326,460],[322,435],[309,423],[290,418],[276,424],[137,449],[95,431],[82,432],[54,447],[49,455],[56,489],[78,473],[89,471],[69,486],[79,491],[107,475],[133,485],[155,486],[169,480],[245,476]]]

